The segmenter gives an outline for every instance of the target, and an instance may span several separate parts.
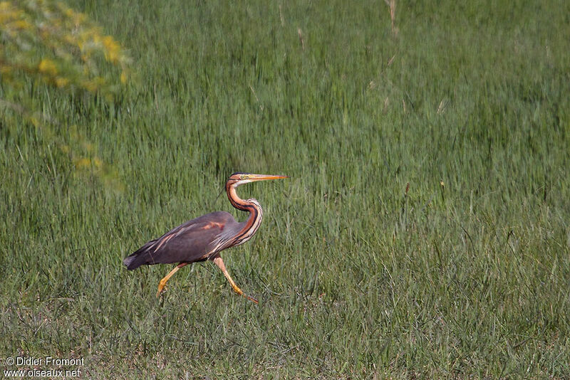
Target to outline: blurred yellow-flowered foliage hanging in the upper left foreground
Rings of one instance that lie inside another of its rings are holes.
[[[44,142],[68,154],[76,169],[113,177],[78,127],[42,109],[34,100],[36,91],[47,86],[80,101],[95,96],[113,102],[130,78],[129,64],[112,36],[61,1],[0,2],[0,122],[9,128],[27,122],[41,129]]]

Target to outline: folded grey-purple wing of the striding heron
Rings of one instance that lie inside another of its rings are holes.
[[[194,263],[207,260],[221,236],[227,236],[237,225],[230,213],[209,213],[149,241],[125,258],[123,263],[128,269],[135,269],[144,264]]]

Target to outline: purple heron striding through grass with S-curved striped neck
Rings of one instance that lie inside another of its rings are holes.
[[[156,293],[156,296],[159,297],[167,281],[180,268],[190,263],[210,260],[222,270],[234,292],[257,304],[258,301],[255,298],[246,295],[234,283],[224,265],[220,252],[249,241],[257,232],[261,225],[261,218],[263,218],[263,210],[257,199],[244,200],[239,198],[236,192],[237,186],[254,181],[284,178],[289,177],[242,172],[232,174],[226,182],[227,197],[234,208],[249,212],[246,221],[238,222],[231,213],[226,211],[215,211],[199,216],[172,228],[160,238],[147,242],[134,253],[128,255],[123,260],[123,264],[128,270],[135,270],[141,265],[178,263],[165,278],[160,280]]]

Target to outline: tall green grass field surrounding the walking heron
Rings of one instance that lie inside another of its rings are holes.
[[[569,378],[570,3],[444,3],[396,0],[393,31],[384,1],[70,1],[138,78],[112,104],[28,90],[118,185],[0,123],[0,359],[83,358],[83,378]],[[264,221],[222,254],[259,305],[212,263],[157,300],[171,266],[122,259],[210,211],[244,220],[218,197],[233,171],[291,176],[239,188]]]

